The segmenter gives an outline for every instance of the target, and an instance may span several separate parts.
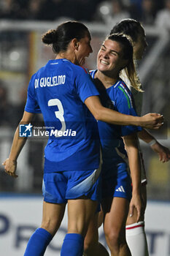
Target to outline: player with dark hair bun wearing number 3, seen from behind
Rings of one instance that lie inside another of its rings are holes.
[[[28,241],[25,256],[44,255],[61,225],[66,203],[68,233],[61,256],[79,256],[100,194],[99,143],[93,137],[93,131],[95,135],[97,131],[93,116],[112,124],[135,122],[155,128],[161,126],[163,118],[158,114],[125,116],[101,105],[90,76],[77,66],[84,64],[92,52],[90,33],[82,23],[62,23],[44,34],[42,42],[53,46],[56,58],[32,76],[21,123],[28,124],[28,129],[34,113],[42,113],[50,136],[45,148],[42,225]],[[72,138],[64,137],[67,129],[72,131]],[[12,177],[17,177],[17,159],[25,143],[26,138],[19,138],[18,127],[9,158],[4,162],[5,171]]]

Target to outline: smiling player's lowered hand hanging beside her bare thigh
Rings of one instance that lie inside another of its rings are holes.
[[[133,217],[134,215],[134,208],[136,208],[137,211],[136,222],[139,222],[139,219],[142,216],[142,199],[140,195],[132,195],[131,197],[131,203],[129,206],[130,217]]]

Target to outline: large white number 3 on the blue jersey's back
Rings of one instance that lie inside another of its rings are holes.
[[[62,132],[66,131],[66,123],[63,118],[63,113],[64,113],[63,105],[62,105],[61,101],[59,99],[50,99],[48,101],[48,106],[49,107],[52,107],[52,106],[58,107],[58,111],[55,111],[55,116],[56,116],[56,118],[58,118],[61,121],[62,127],[61,127],[60,131],[62,131]]]

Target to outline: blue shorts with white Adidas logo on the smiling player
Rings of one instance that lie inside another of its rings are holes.
[[[115,165],[114,167],[102,170],[102,198],[123,197],[131,200],[131,178],[127,165]]]

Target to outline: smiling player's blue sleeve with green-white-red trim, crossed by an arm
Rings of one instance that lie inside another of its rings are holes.
[[[117,91],[115,95],[115,108],[118,112],[125,115],[137,116],[136,110],[134,109],[134,99],[132,97],[131,91],[127,87],[123,86],[121,83],[117,86]],[[133,132],[139,132],[142,130],[141,127],[136,126],[122,126],[122,136],[130,135]]]

